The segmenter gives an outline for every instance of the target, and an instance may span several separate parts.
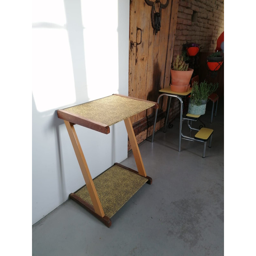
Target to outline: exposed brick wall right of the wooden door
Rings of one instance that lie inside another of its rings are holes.
[[[173,59],[187,41],[200,44],[201,52],[214,52],[223,31],[224,0],[179,0]]]

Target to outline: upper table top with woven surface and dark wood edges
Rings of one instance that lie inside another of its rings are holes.
[[[109,133],[109,126],[148,108],[158,108],[156,102],[113,94],[57,111],[58,117],[95,131]]]

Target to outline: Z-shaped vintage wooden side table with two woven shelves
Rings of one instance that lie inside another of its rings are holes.
[[[158,104],[148,100],[113,94],[57,111],[58,117],[64,120],[86,183],[83,188],[71,193],[69,197],[82,205],[108,228],[111,226],[110,218],[145,183],[152,183],[152,178],[146,174],[130,119],[131,116],[151,107],[158,108]],[[129,136],[138,172],[115,163],[92,180],[74,125],[82,125],[108,134],[110,132],[109,126],[122,120],[124,120]]]

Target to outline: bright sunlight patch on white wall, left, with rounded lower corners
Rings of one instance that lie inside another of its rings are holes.
[[[32,91],[40,112],[76,101],[66,29],[32,29]]]

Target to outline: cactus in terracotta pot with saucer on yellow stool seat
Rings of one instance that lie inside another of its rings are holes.
[[[171,90],[173,92],[187,92],[190,85],[190,79],[194,69],[188,68],[188,63],[185,63],[183,56],[177,55],[171,68]]]

